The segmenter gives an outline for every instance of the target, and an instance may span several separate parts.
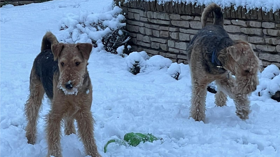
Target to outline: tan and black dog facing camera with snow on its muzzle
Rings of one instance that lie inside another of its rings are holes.
[[[46,118],[48,156],[61,155],[61,123],[64,121],[66,135],[78,135],[86,153],[99,157],[94,140],[92,84],[87,65],[92,44],[59,43],[55,35],[47,32],[42,40],[41,53],[36,57],[30,74],[30,95],[25,105],[28,120],[26,137],[34,144],[39,108],[44,93],[51,100],[51,110]]]

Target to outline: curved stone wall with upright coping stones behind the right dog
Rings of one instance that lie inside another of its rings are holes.
[[[131,35],[134,51],[162,55],[173,62],[187,64],[186,47],[201,29],[204,5],[172,3],[159,5],[157,1],[115,0],[127,18],[127,31]],[[223,9],[225,30],[232,39],[250,42],[263,66],[280,67],[279,10],[246,10],[233,6]],[[213,18],[207,24],[212,24]]]

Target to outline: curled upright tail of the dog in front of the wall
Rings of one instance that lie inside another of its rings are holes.
[[[206,23],[207,23],[207,18],[209,17],[209,15],[214,12],[214,23],[213,25],[221,25],[223,27],[223,11],[222,8],[215,4],[212,3],[210,5],[208,5],[201,16],[201,23],[202,23],[202,27],[205,27]]]

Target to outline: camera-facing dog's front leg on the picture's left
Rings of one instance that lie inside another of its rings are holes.
[[[60,136],[62,115],[59,104],[53,104],[47,119],[48,156],[61,157]]]

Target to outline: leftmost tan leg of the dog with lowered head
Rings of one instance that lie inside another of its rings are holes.
[[[205,100],[207,94],[206,83],[193,83],[192,100],[190,107],[190,117],[195,121],[201,121],[205,118]]]

